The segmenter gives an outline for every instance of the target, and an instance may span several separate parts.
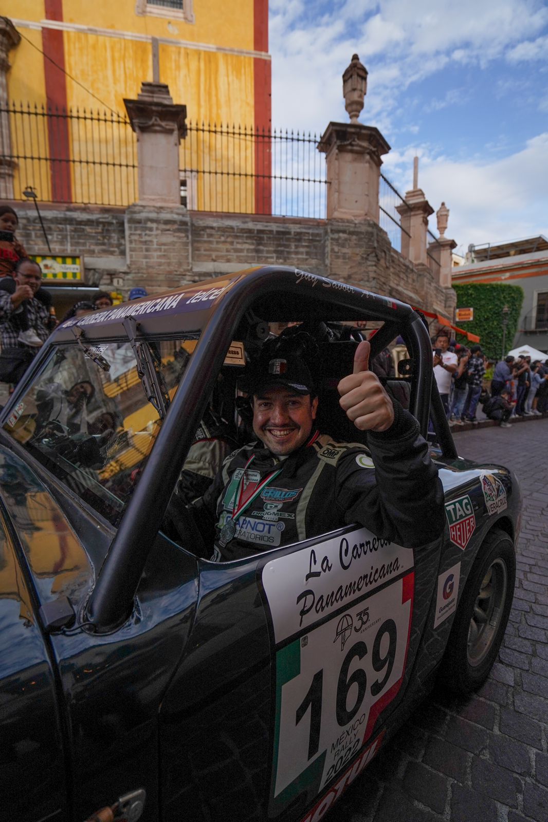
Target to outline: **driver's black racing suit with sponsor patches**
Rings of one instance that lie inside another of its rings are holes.
[[[326,435],[285,458],[260,443],[230,454],[191,509],[204,542],[215,544],[213,558],[251,556],[354,523],[406,547],[439,538],[445,517],[438,472],[416,419],[397,403],[394,409],[388,431],[369,433],[370,456],[364,446],[333,442]],[[281,473],[244,509],[234,538],[223,545],[221,530],[233,513],[239,478],[252,455],[244,500],[268,473],[280,467]]]

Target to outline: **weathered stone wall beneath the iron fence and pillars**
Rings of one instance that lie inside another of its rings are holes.
[[[47,253],[32,207],[15,203],[17,232],[30,253]],[[86,281],[127,294],[174,289],[248,266],[295,266],[453,316],[455,293],[425,266],[395,251],[370,219],[296,219],[188,212],[132,205],[127,210],[42,207],[56,254],[85,257]],[[119,278],[119,279],[118,279]]]

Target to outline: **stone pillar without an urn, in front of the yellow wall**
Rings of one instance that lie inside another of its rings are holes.
[[[179,142],[187,134],[187,107],[175,105],[165,83],[142,83],[136,100],[124,99],[137,134],[139,203],[180,205]]]

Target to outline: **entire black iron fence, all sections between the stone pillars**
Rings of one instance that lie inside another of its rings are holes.
[[[324,219],[325,155],[310,132],[188,123],[180,145],[180,196],[189,210]],[[33,187],[44,202],[130,205],[137,201],[137,141],[114,112],[0,105],[0,169],[13,196]],[[6,195],[8,196],[8,195]],[[411,209],[383,174],[379,223],[409,256]],[[439,270],[433,234],[430,268]]]

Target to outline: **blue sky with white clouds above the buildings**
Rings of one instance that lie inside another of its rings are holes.
[[[383,173],[450,210],[469,243],[548,236],[548,2],[270,0],[272,123],[348,122],[341,75],[369,72],[360,122],[392,150]],[[435,229],[435,219],[430,218]]]

